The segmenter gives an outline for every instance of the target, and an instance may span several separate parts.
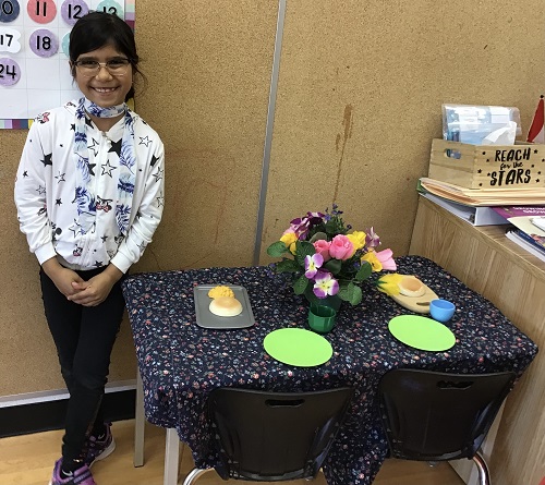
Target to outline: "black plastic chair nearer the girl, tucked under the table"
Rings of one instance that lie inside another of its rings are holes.
[[[352,389],[268,392],[219,388],[208,412],[223,480],[254,482],[313,478],[346,415]],[[206,469],[193,469],[191,485]]]

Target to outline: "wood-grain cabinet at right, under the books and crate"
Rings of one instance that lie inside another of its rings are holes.
[[[488,459],[495,485],[538,485],[545,476],[545,263],[505,231],[473,227],[421,197],[409,252],[488,299],[540,347],[506,401]]]

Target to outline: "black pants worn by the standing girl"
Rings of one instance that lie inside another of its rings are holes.
[[[102,270],[76,272],[88,280]],[[95,422],[98,428],[104,421],[100,404],[125,302],[121,281],[97,306],[83,306],[66,300],[44,270],[40,270],[40,282],[47,323],[70,392],[62,439],[62,457],[68,463],[82,458]]]

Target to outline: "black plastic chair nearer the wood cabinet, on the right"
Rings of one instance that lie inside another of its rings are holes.
[[[480,484],[489,485],[479,449],[514,379],[512,372],[388,372],[380,379],[379,407],[391,456],[428,462],[467,458],[477,465]]]

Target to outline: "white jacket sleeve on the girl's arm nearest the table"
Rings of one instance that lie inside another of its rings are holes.
[[[150,170],[147,172],[144,194],[136,215],[125,239],[110,260],[122,272],[126,272],[130,266],[144,254],[144,250],[152,242],[155,230],[162,217],[165,206],[165,147],[160,140],[158,140],[153,158],[148,160],[148,163],[150,163]]]

